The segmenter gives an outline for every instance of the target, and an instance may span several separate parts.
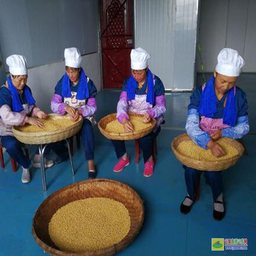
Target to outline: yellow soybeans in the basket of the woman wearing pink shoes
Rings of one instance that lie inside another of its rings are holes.
[[[151,123],[143,123],[143,117],[141,116],[130,116],[129,121],[132,124],[133,131],[140,131],[146,128],[151,127]],[[114,120],[106,125],[105,131],[107,132],[115,132],[115,133],[124,133],[125,129],[122,124],[120,124],[117,120]]]

